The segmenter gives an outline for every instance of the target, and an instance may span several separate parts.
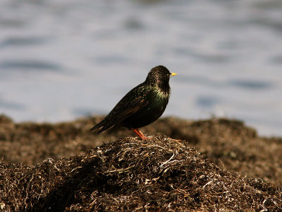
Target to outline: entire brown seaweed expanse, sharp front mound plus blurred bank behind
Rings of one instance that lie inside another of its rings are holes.
[[[282,211],[281,138],[176,117],[142,128],[147,141],[92,134],[102,118],[0,115],[0,211]]]

